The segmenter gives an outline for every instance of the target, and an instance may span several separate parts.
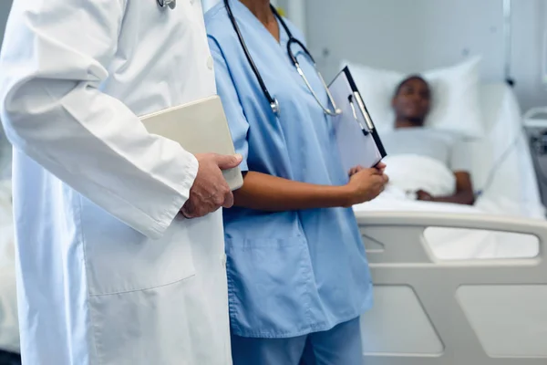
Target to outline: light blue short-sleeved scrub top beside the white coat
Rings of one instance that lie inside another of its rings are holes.
[[[205,16],[221,96],[243,170],[323,185],[344,185],[331,120],[298,75],[281,42],[239,1],[232,12],[256,67],[279,100],[276,117],[243,53],[223,2]],[[288,21],[287,21],[288,23]],[[304,41],[289,24],[291,32]],[[327,104],[312,63],[293,48],[315,93]],[[269,213],[224,210],[232,332],[289,338],[323,331],[372,305],[365,248],[351,208]]]

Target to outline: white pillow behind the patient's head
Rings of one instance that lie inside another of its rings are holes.
[[[480,57],[449,68],[430,70],[420,75],[431,89],[431,110],[426,126],[447,130],[464,137],[480,138],[484,126],[479,102]],[[397,84],[408,74],[343,61],[356,81],[366,109],[380,132],[393,129],[395,114],[391,107]]]

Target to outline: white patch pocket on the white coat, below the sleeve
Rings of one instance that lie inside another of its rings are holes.
[[[195,275],[188,228],[180,217],[160,240],[85,199],[81,217],[90,296],[161,287]]]

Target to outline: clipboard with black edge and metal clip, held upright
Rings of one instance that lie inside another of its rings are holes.
[[[341,110],[332,122],[344,169],[349,172],[356,166],[376,166],[387,153],[347,66],[328,89]]]

